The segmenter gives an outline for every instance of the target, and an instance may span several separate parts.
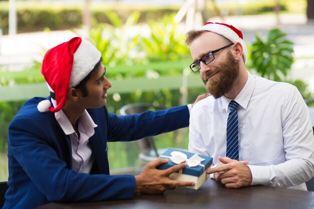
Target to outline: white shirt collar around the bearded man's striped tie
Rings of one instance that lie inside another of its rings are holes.
[[[238,96],[235,99],[233,99],[244,109],[247,108],[249,101],[250,101],[250,98],[252,96],[254,87],[255,87],[254,77],[248,71],[247,71],[247,74],[248,74],[248,78],[247,78],[247,81],[246,81],[243,89],[240,91]],[[221,100],[222,100],[224,108],[228,112],[228,106],[229,106],[231,99],[229,99],[228,97],[222,96]]]

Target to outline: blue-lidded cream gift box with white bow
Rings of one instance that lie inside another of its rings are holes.
[[[167,169],[183,162],[188,164],[184,169],[172,173],[169,177],[174,180],[193,181],[195,185],[187,186],[189,188],[198,189],[209,178],[209,174],[205,171],[212,164],[212,157],[175,148],[168,148],[159,157],[169,159],[169,162],[159,165],[157,169]]]

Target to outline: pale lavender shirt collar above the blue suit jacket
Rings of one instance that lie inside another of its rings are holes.
[[[56,100],[51,98],[51,102],[54,107],[57,106]],[[66,135],[75,133],[74,128],[71,125],[71,122],[69,121],[68,117],[65,115],[63,110],[56,112],[55,118]],[[93,119],[90,117],[87,110],[85,110],[83,115],[80,117],[80,123],[86,130],[94,129],[95,127],[97,127],[97,124],[94,123]]]

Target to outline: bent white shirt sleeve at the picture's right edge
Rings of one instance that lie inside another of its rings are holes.
[[[251,185],[289,187],[308,181],[314,175],[313,130],[308,108],[295,87],[287,94],[281,110],[286,161],[277,165],[248,165]]]

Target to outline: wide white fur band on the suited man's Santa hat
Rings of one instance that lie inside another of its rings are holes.
[[[74,53],[69,87],[77,86],[100,61],[101,53],[91,43],[82,39]]]

